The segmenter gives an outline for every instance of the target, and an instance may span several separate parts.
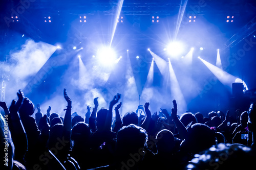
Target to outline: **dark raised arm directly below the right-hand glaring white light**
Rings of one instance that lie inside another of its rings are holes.
[[[186,137],[188,135],[187,134],[188,132],[187,132],[185,126],[180,122],[179,118],[177,117],[178,109],[177,109],[177,103],[176,103],[175,100],[173,100],[173,105],[174,105],[174,108],[172,108],[171,115],[172,115],[172,117],[174,119],[174,123],[175,123],[175,125],[177,127],[177,130],[178,130],[179,134],[180,134],[180,138],[181,139],[186,139]]]

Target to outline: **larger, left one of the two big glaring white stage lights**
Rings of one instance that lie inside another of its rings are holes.
[[[117,57],[114,50],[110,47],[104,47],[98,51],[97,57],[99,61],[104,65],[110,65],[115,63]]]

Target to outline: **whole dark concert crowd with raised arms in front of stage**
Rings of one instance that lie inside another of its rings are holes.
[[[254,165],[256,104],[238,116],[230,111],[177,115],[151,113],[150,103],[123,116],[117,93],[109,108],[72,113],[66,89],[65,116],[41,112],[22,90],[10,107],[0,102],[1,169],[247,169]],[[114,108],[115,107],[115,108]],[[113,117],[113,108],[115,117]],[[37,109],[37,112],[35,111]],[[36,113],[35,113],[36,112]],[[142,114],[143,112],[144,114]],[[32,116],[35,114],[35,116]],[[35,117],[35,118],[34,118]]]

